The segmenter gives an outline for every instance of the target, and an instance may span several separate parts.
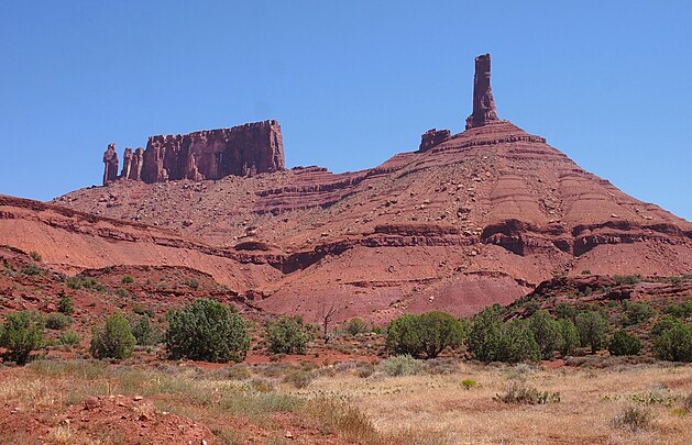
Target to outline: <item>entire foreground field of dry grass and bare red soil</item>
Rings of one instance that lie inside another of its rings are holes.
[[[18,444],[173,443],[166,422],[198,444],[686,444],[692,434],[692,366],[447,359],[419,368],[393,377],[358,363],[36,360],[0,369],[0,435]],[[496,400],[512,387],[551,397]],[[90,397],[98,408],[85,408]]]

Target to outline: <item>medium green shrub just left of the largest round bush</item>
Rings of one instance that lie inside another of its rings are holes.
[[[128,358],[135,344],[130,323],[122,313],[114,312],[102,327],[94,329],[91,355],[95,358]]]

